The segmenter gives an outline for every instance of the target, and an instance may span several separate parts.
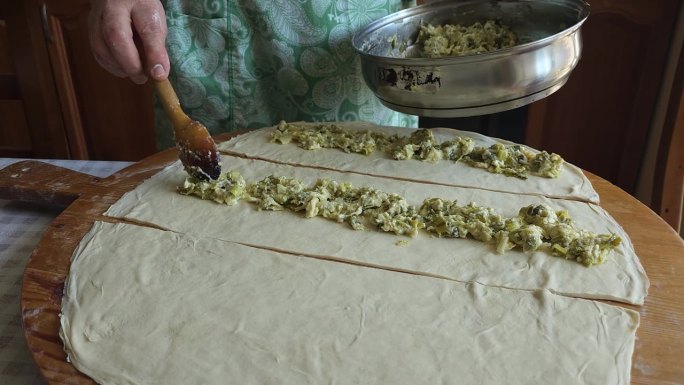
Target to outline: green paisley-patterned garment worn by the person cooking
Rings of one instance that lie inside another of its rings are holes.
[[[166,0],[170,80],[212,134],[280,120],[417,125],[366,87],[355,31],[407,0]],[[173,145],[157,108],[158,144]]]

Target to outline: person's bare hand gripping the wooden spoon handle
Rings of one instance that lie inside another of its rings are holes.
[[[91,0],[88,27],[95,60],[113,75],[137,84],[148,75],[168,76],[166,16],[159,0]]]

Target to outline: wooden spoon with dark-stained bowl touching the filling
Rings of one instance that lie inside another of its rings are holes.
[[[154,82],[159,99],[173,124],[178,157],[185,171],[200,180],[218,179],[221,163],[216,143],[204,125],[183,112],[168,79]]]

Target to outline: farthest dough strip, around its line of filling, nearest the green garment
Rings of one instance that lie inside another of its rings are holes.
[[[304,123],[303,123],[304,124]],[[342,124],[342,123],[340,123]],[[345,122],[350,130],[373,130],[384,134],[408,136],[415,129],[377,126],[366,122]],[[269,127],[237,136],[218,145],[219,150],[250,158],[266,159],[292,165],[313,166],[339,171],[351,171],[368,175],[438,183],[447,186],[476,187],[493,191],[543,195],[588,202],[599,202],[599,196],[578,167],[565,162],[558,178],[530,176],[526,180],[493,174],[469,166],[463,162],[439,161],[437,163],[419,160],[397,161],[386,154],[375,151],[371,155],[348,154],[337,149],[305,150],[294,143],[270,142],[275,128]],[[495,143],[514,144],[509,141],[490,138],[473,132],[449,128],[433,128],[439,141],[457,136],[472,138],[476,145],[489,147]],[[524,146],[529,148],[527,146]],[[535,153],[539,152],[529,148]]]

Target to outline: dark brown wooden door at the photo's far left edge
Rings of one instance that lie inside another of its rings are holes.
[[[3,65],[0,156],[69,158],[40,15],[25,1],[0,1]]]

